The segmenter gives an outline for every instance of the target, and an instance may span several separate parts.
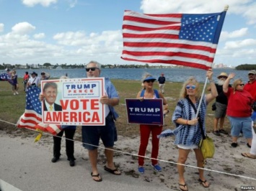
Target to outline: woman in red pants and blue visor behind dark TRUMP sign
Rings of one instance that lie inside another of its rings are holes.
[[[153,85],[156,78],[153,78],[152,75],[146,73],[142,78],[143,90],[139,91],[137,98],[143,101],[144,99],[155,99],[162,98],[164,106],[167,105],[167,101],[164,98],[164,95],[158,91],[154,90]],[[159,139],[157,135],[161,134],[163,126],[159,125],[146,125],[140,124],[140,133],[141,133],[141,144],[138,149],[139,156],[145,156],[146,147],[149,143],[149,136],[152,134],[152,150],[151,150],[151,166],[156,172],[162,171],[162,168],[159,166],[157,157],[159,152]],[[138,172],[144,174],[144,157],[138,157]]]

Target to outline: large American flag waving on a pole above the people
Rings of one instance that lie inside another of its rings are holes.
[[[140,14],[125,11],[123,60],[211,68],[226,11]]]

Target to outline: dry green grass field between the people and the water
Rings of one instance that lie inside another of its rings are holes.
[[[120,104],[115,106],[115,110],[118,112],[120,118],[116,122],[118,134],[122,136],[138,136],[139,129],[138,124],[128,124],[127,114],[125,109],[125,98],[136,98],[139,90],[141,90],[141,82],[136,80],[111,80],[118,90],[120,95]],[[22,78],[19,78],[19,95],[13,95],[12,85],[7,82],[0,82],[0,130],[12,131],[16,130],[13,124],[16,124],[19,117],[25,111],[25,91],[22,87]],[[201,84],[203,88],[203,84]],[[164,118],[164,129],[174,129],[172,124],[172,113],[175,109],[176,103],[179,99],[180,88],[182,83],[170,83],[167,82],[164,90],[164,96],[167,98],[169,105],[169,113]],[[154,83],[154,88],[158,89],[157,83]],[[212,102],[213,103],[213,102]],[[206,131],[213,130],[214,113],[211,111],[211,104],[207,108],[206,116]],[[6,121],[6,122],[5,122]],[[224,127],[229,126],[229,121],[226,120]],[[79,127],[78,127],[79,129]]]

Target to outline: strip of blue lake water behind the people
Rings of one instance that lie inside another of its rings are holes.
[[[20,69],[17,70],[17,74],[19,78],[22,78],[25,72],[28,71],[32,73],[35,71],[40,75],[41,72],[50,73],[52,78],[60,78],[61,75],[68,74],[69,78],[85,78],[86,72],[85,69],[52,69],[52,70],[45,70],[45,69],[34,69],[34,70],[24,70]],[[5,72],[1,70],[1,72]],[[221,73],[236,73],[237,78],[242,78],[244,83],[247,82],[247,70],[234,70],[234,69],[213,69],[213,79],[216,80],[216,77]],[[102,69],[101,76],[108,77],[110,79],[123,79],[123,80],[141,80],[141,76],[144,73],[150,73],[154,76],[154,78],[158,78],[161,73],[164,73],[164,76],[167,81],[171,82],[184,82],[188,77],[195,76],[195,78],[199,82],[204,82],[206,80],[206,70],[196,69],[196,68],[106,68]]]

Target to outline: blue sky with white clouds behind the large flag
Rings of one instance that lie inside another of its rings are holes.
[[[255,0],[0,0],[0,64],[142,64],[120,58],[125,10],[204,14],[226,5],[214,63],[256,64]]]

